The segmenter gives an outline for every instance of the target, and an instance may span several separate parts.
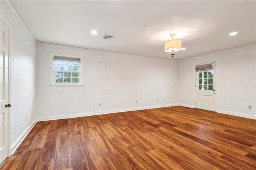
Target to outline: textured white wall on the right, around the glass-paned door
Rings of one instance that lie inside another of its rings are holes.
[[[179,61],[179,103],[194,106],[194,64],[215,59],[218,111],[256,115],[255,44]]]

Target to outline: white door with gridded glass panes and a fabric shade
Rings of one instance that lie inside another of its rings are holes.
[[[195,108],[216,111],[216,62],[196,65]]]

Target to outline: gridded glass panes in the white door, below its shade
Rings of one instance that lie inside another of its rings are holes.
[[[213,69],[198,71],[198,91],[213,90]]]

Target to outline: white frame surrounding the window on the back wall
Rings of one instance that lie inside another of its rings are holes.
[[[67,58],[74,58],[74,59],[80,59],[79,63],[79,83],[56,83],[55,82],[55,71],[54,71],[54,56],[58,56],[58,58],[67,59]],[[82,56],[75,56],[75,55],[65,55],[65,54],[56,54],[51,53],[50,54],[50,86],[51,87],[81,87],[84,86],[84,71],[83,71],[83,57]]]

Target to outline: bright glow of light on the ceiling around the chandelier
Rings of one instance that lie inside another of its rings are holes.
[[[166,16],[145,29],[144,34],[149,40],[144,36],[138,39],[145,44],[160,45],[163,41],[170,40],[170,34],[176,34],[175,39],[189,41],[208,34],[213,28],[214,24],[209,20]]]

